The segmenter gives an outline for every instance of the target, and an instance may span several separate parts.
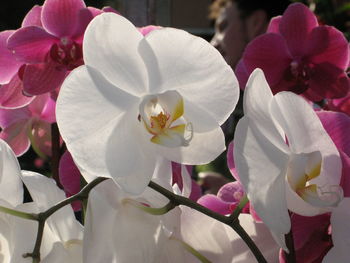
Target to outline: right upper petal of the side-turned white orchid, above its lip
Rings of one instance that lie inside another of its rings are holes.
[[[286,132],[293,153],[320,151],[321,173],[310,183],[339,185],[342,169],[339,152],[312,107],[296,94],[280,92],[274,97],[271,112]]]

